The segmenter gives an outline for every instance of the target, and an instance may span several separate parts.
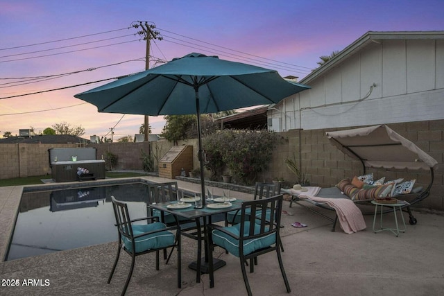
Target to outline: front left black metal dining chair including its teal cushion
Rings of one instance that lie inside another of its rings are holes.
[[[111,200],[119,233],[119,247],[117,249],[116,259],[114,260],[110,277],[108,277],[108,284],[110,284],[112,275],[114,275],[114,270],[119,261],[121,250],[131,256],[130,271],[126,278],[125,286],[123,286],[121,292],[121,295],[125,295],[126,288],[128,288],[131,276],[133,275],[136,256],[155,252],[155,268],[156,270],[159,270],[159,251],[166,250],[169,247],[176,247],[178,250],[178,288],[180,288],[182,283],[180,266],[180,227],[177,225],[167,227],[164,223],[157,222],[157,217],[131,220],[126,203],[119,202],[114,196],[111,196]],[[142,221],[146,221],[146,224],[138,224]],[[176,231],[176,234],[171,231]]]

